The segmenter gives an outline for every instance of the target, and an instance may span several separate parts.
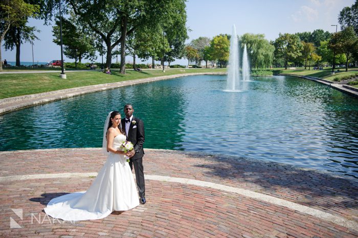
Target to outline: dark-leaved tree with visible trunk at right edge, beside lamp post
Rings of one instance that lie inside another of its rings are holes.
[[[353,27],[346,27],[342,31],[334,34],[329,47],[337,53],[342,53],[346,56],[346,72],[348,71],[348,62],[353,55],[358,51],[358,37],[354,32]]]

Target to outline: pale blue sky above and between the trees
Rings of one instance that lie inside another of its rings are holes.
[[[338,25],[340,30],[338,14],[344,7],[352,6],[354,0],[189,0],[186,4],[187,27],[191,29],[188,42],[200,36],[212,38],[221,33],[231,34],[232,25],[236,26],[238,35],[260,33],[268,40],[275,40],[279,33],[316,29],[334,32],[335,27],[331,25]],[[30,20],[29,26],[41,31],[37,33],[40,41],[34,41],[35,62],[60,59],[60,46],[52,42],[52,26],[44,26],[42,20],[35,19]],[[2,58],[15,61],[15,51],[5,51],[2,46]],[[74,61],[65,56],[64,59]],[[32,61],[30,43],[21,45],[20,60]],[[127,62],[130,61],[131,57],[127,57]],[[176,63],[187,64],[187,60],[176,60],[172,64]]]

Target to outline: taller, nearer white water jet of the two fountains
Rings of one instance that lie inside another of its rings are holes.
[[[226,91],[239,91],[239,50],[236,28],[233,25],[230,39],[229,69]]]

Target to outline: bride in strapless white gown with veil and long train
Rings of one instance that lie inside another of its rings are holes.
[[[139,205],[137,186],[126,154],[118,148],[126,140],[121,128],[121,114],[108,113],[103,129],[102,150],[107,160],[87,191],[52,199],[44,211],[65,221],[95,220],[113,211],[125,211]],[[108,153],[109,152],[109,153]]]

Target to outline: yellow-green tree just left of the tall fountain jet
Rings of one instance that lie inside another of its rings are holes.
[[[217,59],[220,68],[226,67],[229,61],[230,40],[227,35],[215,36],[210,42],[211,57]]]

